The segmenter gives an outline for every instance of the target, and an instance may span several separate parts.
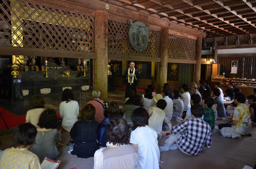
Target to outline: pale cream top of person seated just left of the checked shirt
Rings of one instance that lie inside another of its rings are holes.
[[[165,111],[158,107],[151,107],[149,110],[152,111],[152,115],[148,119],[148,126],[160,134],[163,128],[163,120],[165,119]]]

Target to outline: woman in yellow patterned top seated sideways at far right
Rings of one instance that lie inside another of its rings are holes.
[[[234,115],[231,122],[227,124],[219,124],[219,130],[225,128],[226,132],[223,136],[231,136],[232,133],[238,133],[241,136],[247,135],[252,129],[252,121],[250,119],[250,111],[245,105],[245,95],[238,93],[235,95],[235,104]]]

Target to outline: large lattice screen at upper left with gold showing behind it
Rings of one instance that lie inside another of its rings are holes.
[[[18,1],[0,1],[0,45],[94,51],[93,17]]]

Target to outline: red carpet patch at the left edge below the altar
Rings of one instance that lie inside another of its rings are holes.
[[[2,113],[4,120],[6,121],[9,128],[15,128],[19,124],[25,123],[26,121],[26,115],[16,116],[11,112],[6,111],[6,109],[3,109],[3,107],[0,107],[0,112]],[[0,129],[7,129],[2,117],[0,117]]]

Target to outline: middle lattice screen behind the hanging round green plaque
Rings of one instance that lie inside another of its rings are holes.
[[[160,57],[160,31],[149,30],[148,46],[137,52],[129,43],[129,24],[108,21],[108,53],[122,55],[141,55],[144,57]]]

